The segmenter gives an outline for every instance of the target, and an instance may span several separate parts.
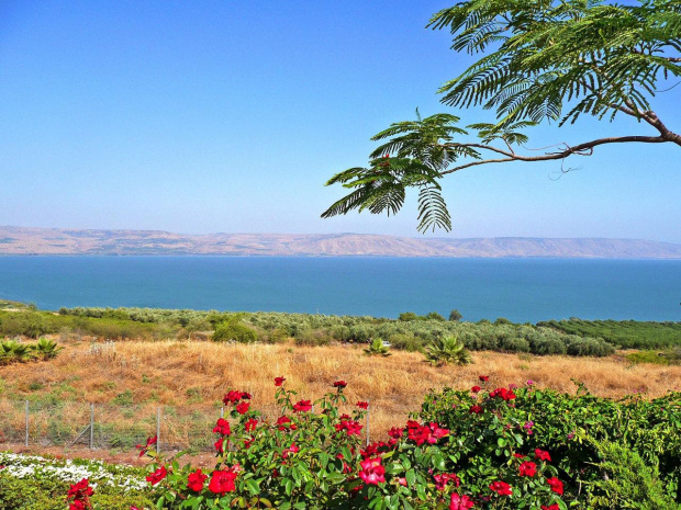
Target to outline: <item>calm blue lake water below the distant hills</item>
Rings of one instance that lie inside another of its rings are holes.
[[[681,320],[681,261],[289,257],[0,257],[0,298],[62,306],[465,320]]]

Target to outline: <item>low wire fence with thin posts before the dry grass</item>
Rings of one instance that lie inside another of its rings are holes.
[[[217,418],[228,410],[215,406],[149,406],[30,401],[0,399],[0,444],[25,446],[134,450],[147,438],[158,438],[158,451],[214,451],[212,432]],[[276,405],[258,406],[263,418],[273,423],[281,416]],[[314,412],[314,409],[313,409]],[[370,413],[364,433],[370,433]]]

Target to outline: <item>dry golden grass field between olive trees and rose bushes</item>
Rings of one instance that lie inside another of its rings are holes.
[[[237,388],[253,394],[256,408],[273,415],[276,376],[287,377],[287,386],[305,399],[319,398],[333,389],[334,381],[345,379],[350,404],[370,400],[372,437],[379,437],[390,427],[403,423],[410,411],[417,410],[431,388],[467,388],[476,384],[479,374],[490,375],[494,385],[520,385],[533,379],[539,387],[568,393],[574,392],[574,379],[604,397],[639,390],[655,397],[681,386],[681,366],[632,365],[618,356],[542,358],[473,352],[472,359],[475,363],[468,366],[433,367],[418,353],[393,352],[390,358],[375,358],[364,355],[359,347],[353,345],[130,341],[92,350],[83,342],[67,345],[51,362],[0,367],[0,389],[4,387],[3,393],[14,398],[49,394],[52,398],[68,400],[69,408],[63,413],[72,417],[74,423],[87,424],[89,408],[85,403],[94,403],[98,409],[109,409],[108,420],[146,423],[153,430],[158,406],[174,406],[176,415],[182,415],[178,409],[187,413],[199,411],[210,423],[220,412],[225,392]],[[138,405],[127,412],[111,404],[125,392]],[[0,398],[0,413],[7,417],[5,423],[21,430],[20,409]],[[49,419],[45,412],[32,427],[46,430]],[[98,410],[100,419],[103,418]],[[181,445],[191,442],[191,423],[187,420],[170,416],[164,428],[161,435],[167,440]]]

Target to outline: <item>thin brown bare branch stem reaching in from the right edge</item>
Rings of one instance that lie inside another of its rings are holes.
[[[679,135],[676,135],[676,136],[679,136]],[[593,148],[600,145],[625,144],[625,143],[666,144],[666,143],[677,143],[677,141],[668,137],[665,137],[665,136],[637,136],[637,135],[617,136],[617,137],[599,138],[599,139],[595,139],[592,141],[585,141],[583,144],[579,144],[576,146],[569,146],[568,144],[561,144],[565,147],[562,150],[558,150],[556,152],[546,152],[545,155],[542,155],[542,156],[523,156],[523,155],[518,155],[515,152],[509,152],[498,147],[492,147],[491,145],[484,145],[484,144],[447,144],[447,146],[449,147],[466,146],[466,147],[475,147],[475,148],[479,148],[483,150],[490,150],[492,152],[501,154],[506,157],[498,158],[498,159],[481,159],[477,161],[471,161],[469,163],[460,165],[458,167],[450,168],[449,170],[445,170],[440,172],[440,174],[446,175],[447,173],[454,173],[465,168],[475,167],[478,165],[487,165],[487,163],[501,163],[501,162],[509,162],[509,161],[531,161],[531,162],[554,161],[557,159],[565,159],[568,156],[572,156],[572,155],[591,156],[593,154]],[[681,143],[679,145],[681,145]]]

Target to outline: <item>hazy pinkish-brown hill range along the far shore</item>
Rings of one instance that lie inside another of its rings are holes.
[[[639,239],[412,238],[366,234],[209,234],[0,227],[0,254],[222,254],[681,259],[681,245]]]

